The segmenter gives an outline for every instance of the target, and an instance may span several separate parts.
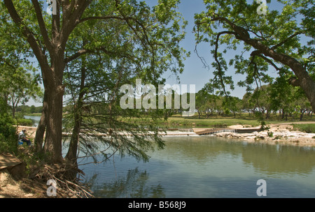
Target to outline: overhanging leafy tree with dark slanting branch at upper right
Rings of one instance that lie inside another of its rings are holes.
[[[270,2],[270,1],[268,1]],[[314,73],[314,1],[278,1],[258,14],[256,1],[204,0],[205,12],[195,15],[195,35],[198,43],[210,43],[214,61],[213,83],[229,95],[226,86],[234,88],[228,66],[246,74],[239,82],[253,90],[252,84],[272,82],[269,67],[300,86],[315,109]],[[234,50],[241,49],[237,53]],[[237,54],[228,63],[227,53]],[[202,58],[202,57],[201,57]],[[206,62],[202,59],[204,63]]]

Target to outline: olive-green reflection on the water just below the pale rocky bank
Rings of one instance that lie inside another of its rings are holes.
[[[241,157],[244,165],[269,174],[312,172],[315,167],[315,149],[308,146],[246,143],[216,137],[175,137],[166,139],[165,155],[170,160],[190,160],[197,164],[214,161],[221,156]]]

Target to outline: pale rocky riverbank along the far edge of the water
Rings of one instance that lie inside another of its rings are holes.
[[[204,135],[211,135],[217,137],[227,137],[232,139],[241,139],[247,142],[267,142],[272,144],[283,143],[293,145],[307,145],[315,146],[315,133],[302,132],[296,130],[294,126],[299,124],[315,125],[315,121],[304,121],[304,122],[292,122],[292,123],[275,123],[269,124],[269,130],[260,131],[260,127],[252,127],[248,125],[234,125],[228,126],[227,128],[172,128],[166,132],[161,132],[160,135],[163,137],[172,136],[200,136],[200,132],[209,132]],[[294,125],[294,126],[293,126]],[[35,137],[36,128],[19,126],[18,130],[25,128],[27,135],[31,138]],[[314,131],[314,130],[313,130]],[[124,132],[121,132],[124,134]],[[64,136],[70,135],[64,133]],[[104,134],[104,136],[109,136]]]

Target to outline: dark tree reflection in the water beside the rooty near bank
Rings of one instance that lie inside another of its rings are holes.
[[[102,185],[94,185],[97,174],[94,174],[88,181],[92,185],[95,197],[109,198],[163,198],[165,197],[162,185],[148,186],[149,175],[146,171],[139,172],[138,168],[128,170],[127,176],[119,177],[113,183],[104,183]]]

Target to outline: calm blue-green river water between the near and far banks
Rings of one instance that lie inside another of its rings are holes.
[[[236,142],[217,137],[165,137],[149,162],[120,158],[81,165],[96,197],[315,197],[315,148]],[[81,163],[88,162],[87,160]]]

